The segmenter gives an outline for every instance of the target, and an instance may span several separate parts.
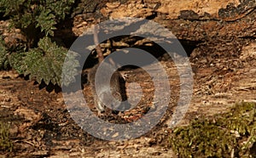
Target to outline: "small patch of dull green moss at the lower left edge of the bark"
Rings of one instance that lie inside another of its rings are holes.
[[[12,151],[13,144],[9,139],[9,125],[0,121],[0,150]]]

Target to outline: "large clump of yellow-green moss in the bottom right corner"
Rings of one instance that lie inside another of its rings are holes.
[[[176,127],[172,149],[180,157],[253,157],[256,144],[256,104],[236,104],[229,112],[199,118]]]

